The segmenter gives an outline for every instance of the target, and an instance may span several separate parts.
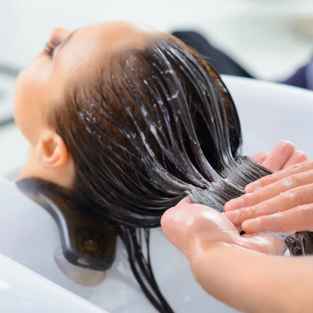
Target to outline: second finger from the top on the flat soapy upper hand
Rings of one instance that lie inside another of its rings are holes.
[[[273,198],[281,192],[311,183],[313,183],[313,170],[294,174],[225,203],[225,211],[228,212],[239,208],[250,207]]]

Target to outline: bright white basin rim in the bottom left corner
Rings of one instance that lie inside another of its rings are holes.
[[[106,313],[8,257],[0,264],[1,313]]]

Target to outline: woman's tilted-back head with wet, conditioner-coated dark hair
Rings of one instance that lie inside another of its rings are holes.
[[[138,226],[218,180],[241,140],[218,74],[177,38],[124,22],[55,30],[18,77],[15,118],[31,143],[27,176]]]

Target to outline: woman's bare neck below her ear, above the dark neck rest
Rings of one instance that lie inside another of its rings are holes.
[[[38,178],[52,182],[61,187],[71,189],[74,185],[74,166],[72,159],[63,167],[47,168],[42,166],[34,157],[32,149],[29,150],[28,160],[18,176],[18,180],[25,178]],[[71,164],[70,164],[71,163]]]

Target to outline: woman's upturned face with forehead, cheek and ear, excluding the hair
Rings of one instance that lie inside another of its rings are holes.
[[[55,136],[51,116],[59,107],[71,105],[66,100],[73,88],[91,88],[91,80],[110,67],[114,54],[141,49],[161,36],[164,35],[125,22],[101,23],[75,32],[57,28],[52,32],[46,49],[18,75],[16,83],[15,120],[31,143],[32,167],[44,171],[43,175],[52,180],[55,172],[60,176],[64,169],[67,177],[73,176],[70,155]],[[60,167],[62,171],[58,171]],[[59,184],[71,183],[64,175],[61,177]]]

